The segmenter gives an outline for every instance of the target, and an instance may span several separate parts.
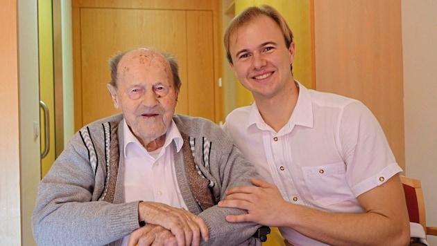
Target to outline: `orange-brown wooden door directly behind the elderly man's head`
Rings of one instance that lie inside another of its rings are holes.
[[[215,31],[216,1],[133,2],[73,1],[76,130],[119,113],[106,88],[108,59],[139,46],[165,50],[177,58],[182,88],[176,113],[223,120],[221,88],[216,85],[220,77],[216,47],[221,41]]]

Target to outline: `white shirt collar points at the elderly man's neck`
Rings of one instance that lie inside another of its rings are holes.
[[[176,126],[175,122],[173,120],[171,120],[169,129],[167,129],[167,131],[166,131],[166,138],[165,138],[165,142],[164,142],[163,147],[166,148],[173,141],[175,142],[175,145],[176,145],[176,151],[179,152],[180,149],[182,149],[182,144],[184,144],[184,140],[182,140],[182,135],[180,135],[178,126]],[[126,158],[127,151],[128,151],[128,149],[126,147],[130,143],[135,143],[135,144],[138,144],[138,146],[142,146],[142,144],[139,142],[137,137],[135,137],[135,135],[133,135],[132,131],[130,131],[129,126],[126,123],[126,120],[123,119],[123,150],[124,150],[123,152],[124,152],[125,158]]]

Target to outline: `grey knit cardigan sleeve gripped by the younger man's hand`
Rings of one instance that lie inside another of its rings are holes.
[[[243,157],[229,135],[219,126],[198,118],[190,120],[182,117],[181,123],[182,131],[195,138],[194,162],[203,176],[214,184],[211,190],[216,202],[225,198],[225,191],[230,187],[252,186],[250,178],[262,179],[255,167]],[[185,182],[180,182],[181,184]],[[185,191],[188,186],[180,189]],[[185,200],[190,208],[189,204],[193,204],[192,199]],[[196,209],[190,211],[197,214]],[[209,229],[209,240],[202,242],[202,245],[253,245],[255,238],[252,235],[261,225],[249,222],[229,223],[225,219],[229,214],[246,213],[246,210],[217,205],[200,211],[198,216],[205,220]]]

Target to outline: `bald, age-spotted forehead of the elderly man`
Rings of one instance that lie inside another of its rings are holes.
[[[164,70],[165,73],[169,73],[171,70],[169,61],[153,50],[132,50],[123,55],[119,62],[117,72],[119,75],[126,75],[130,70],[135,68],[146,70]],[[171,75],[171,74],[170,74]]]

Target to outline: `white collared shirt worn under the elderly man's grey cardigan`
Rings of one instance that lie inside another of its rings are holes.
[[[124,192],[126,202],[137,200],[161,202],[172,207],[187,205],[182,198],[175,176],[173,146],[182,149],[182,136],[175,122],[171,120],[166,132],[164,146],[149,153],[130,131],[123,120],[124,149]],[[127,245],[129,235],[123,238]]]

